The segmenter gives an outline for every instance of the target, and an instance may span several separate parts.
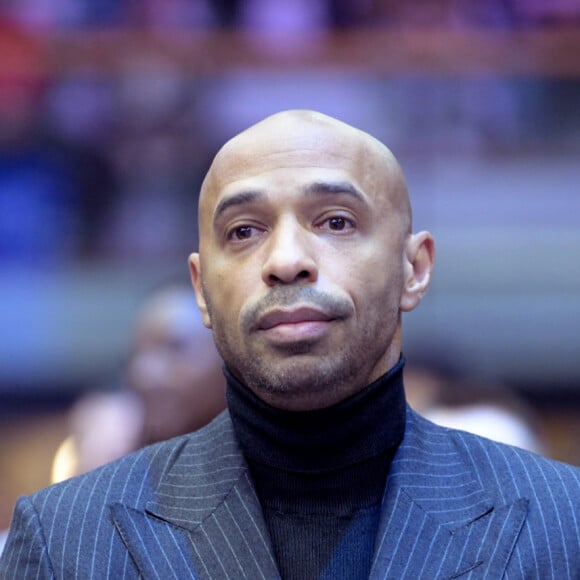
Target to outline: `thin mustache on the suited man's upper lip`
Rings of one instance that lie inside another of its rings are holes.
[[[246,331],[254,330],[264,314],[278,308],[287,310],[296,305],[315,308],[331,318],[347,318],[353,314],[352,303],[346,298],[310,287],[274,286],[266,296],[242,313],[242,328]]]

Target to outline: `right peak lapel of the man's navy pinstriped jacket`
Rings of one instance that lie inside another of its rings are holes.
[[[494,505],[443,429],[408,417],[389,474],[371,578],[499,578],[527,501]]]

